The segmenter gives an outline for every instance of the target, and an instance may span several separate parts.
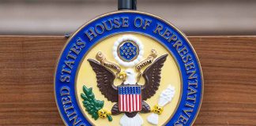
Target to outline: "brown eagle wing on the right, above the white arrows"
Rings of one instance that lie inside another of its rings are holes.
[[[142,73],[142,76],[145,79],[145,84],[142,87],[142,99],[146,100],[155,95],[161,80],[161,69],[164,65],[164,61],[168,54],[164,54],[156,59],[145,71]]]

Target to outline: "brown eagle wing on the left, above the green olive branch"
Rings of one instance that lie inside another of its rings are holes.
[[[114,85],[115,73],[104,67],[104,65],[100,65],[98,61],[88,59],[88,62],[96,73],[97,86],[100,88],[101,94],[111,102],[118,102],[119,91]]]

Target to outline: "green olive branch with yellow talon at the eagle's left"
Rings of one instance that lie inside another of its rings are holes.
[[[87,88],[85,85],[83,86],[84,93],[81,93],[81,98],[84,99],[83,106],[85,106],[85,110],[92,115],[94,120],[97,120],[100,117],[105,118],[109,121],[112,120],[112,117],[105,112],[103,109],[104,101],[96,100],[95,95],[92,93],[92,87]],[[98,111],[100,110],[100,113]],[[106,116],[104,116],[106,115]]]

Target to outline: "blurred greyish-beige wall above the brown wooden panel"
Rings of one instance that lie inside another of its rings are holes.
[[[117,0],[0,0],[0,35],[63,35]],[[137,10],[171,21],[186,35],[256,35],[256,1],[137,0]]]

